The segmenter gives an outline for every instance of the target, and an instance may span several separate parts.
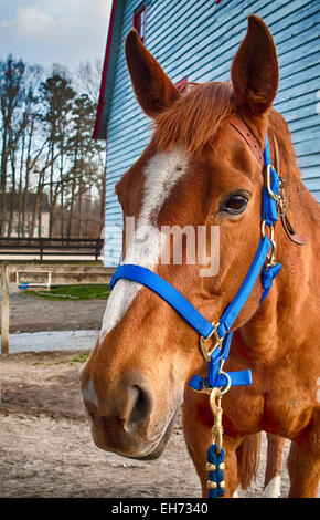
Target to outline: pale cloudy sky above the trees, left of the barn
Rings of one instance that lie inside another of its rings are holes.
[[[111,0],[0,0],[0,59],[71,71],[103,61]]]

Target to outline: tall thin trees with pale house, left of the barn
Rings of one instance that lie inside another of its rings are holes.
[[[71,77],[0,60],[0,236],[97,237],[105,145],[93,139],[98,64]]]

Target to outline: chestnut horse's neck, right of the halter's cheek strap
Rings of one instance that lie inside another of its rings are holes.
[[[295,230],[305,238],[298,246],[277,222],[276,261],[282,269],[254,316],[239,330],[250,357],[273,362],[288,347],[302,349],[317,330],[317,287],[320,283],[319,207],[305,187],[295,160],[286,165],[287,211]],[[312,290],[314,288],[314,291]]]

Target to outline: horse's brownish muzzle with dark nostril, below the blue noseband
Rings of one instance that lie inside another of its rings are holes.
[[[142,374],[128,372],[113,392],[104,393],[102,406],[89,383],[83,388],[83,401],[98,448],[139,459],[162,454],[177,414],[157,414],[153,391]]]

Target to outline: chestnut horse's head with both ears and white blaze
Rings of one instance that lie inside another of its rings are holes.
[[[259,150],[278,86],[275,44],[264,22],[250,15],[232,81],[193,84],[185,93],[135,30],[127,37],[126,58],[153,133],[116,185],[124,212],[122,263],[156,272],[214,321],[236,294],[260,238]],[[233,124],[239,119],[247,136]],[[173,229],[181,230],[179,247]],[[235,329],[255,314],[260,295],[258,282]],[[128,457],[158,457],[185,385],[203,363],[196,332],[166,301],[138,282],[119,280],[81,376],[96,445]]]

